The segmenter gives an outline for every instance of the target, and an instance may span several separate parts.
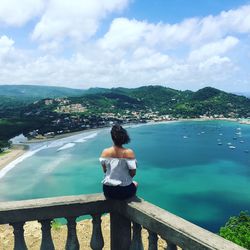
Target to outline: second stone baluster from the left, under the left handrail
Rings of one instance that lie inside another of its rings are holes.
[[[54,244],[51,237],[51,221],[41,220],[39,221],[42,225],[42,244],[41,250],[54,250]]]

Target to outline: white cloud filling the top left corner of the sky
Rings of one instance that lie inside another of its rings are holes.
[[[21,26],[41,14],[45,0],[1,0],[0,24]]]

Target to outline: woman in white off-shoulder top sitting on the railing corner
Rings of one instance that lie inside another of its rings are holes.
[[[105,173],[103,193],[106,198],[124,200],[135,195],[137,183],[133,182],[136,174],[136,159],[133,150],[124,148],[130,142],[127,131],[120,125],[111,129],[114,145],[103,150],[100,162]]]

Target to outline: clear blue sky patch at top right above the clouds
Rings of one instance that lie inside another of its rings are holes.
[[[218,15],[247,3],[245,0],[135,0],[126,14],[129,18],[173,24],[185,18]]]

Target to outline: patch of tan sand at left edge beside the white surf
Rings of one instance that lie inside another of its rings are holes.
[[[0,170],[23,155],[27,150],[27,145],[13,145],[7,152],[0,155]]]

